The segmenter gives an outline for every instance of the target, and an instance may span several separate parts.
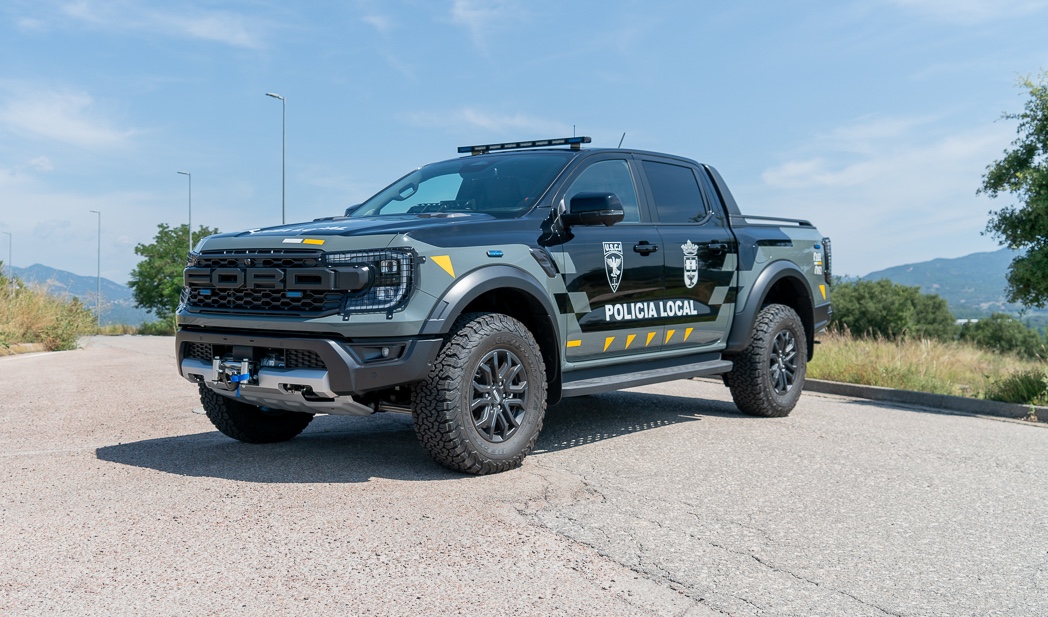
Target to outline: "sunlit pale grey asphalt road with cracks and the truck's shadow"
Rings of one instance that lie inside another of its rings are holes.
[[[474,478],[406,416],[226,439],[171,338],[3,357],[0,393],[0,615],[1048,615],[1043,425],[677,381]]]

